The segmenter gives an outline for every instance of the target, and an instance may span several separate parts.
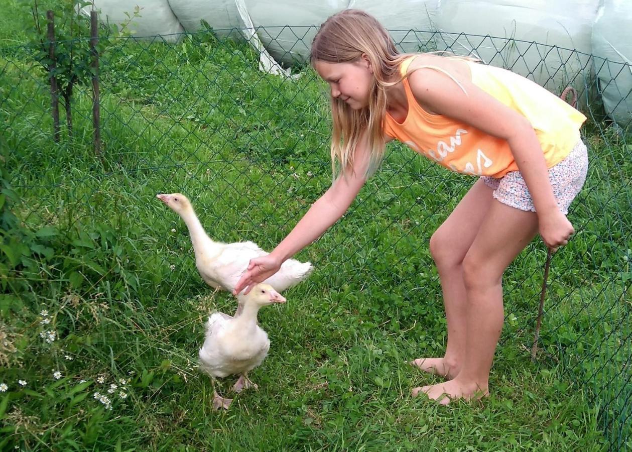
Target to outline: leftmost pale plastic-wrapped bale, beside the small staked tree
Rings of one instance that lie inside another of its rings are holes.
[[[167,42],[176,42],[180,39],[181,33],[185,30],[180,25],[178,19],[169,8],[167,0],[94,0],[95,9],[99,9],[99,20],[102,22],[116,23],[119,25],[130,22],[128,30],[133,32],[135,37],[161,36]],[[133,16],[134,8],[140,8],[139,16]],[[90,14],[92,6],[83,9]]]

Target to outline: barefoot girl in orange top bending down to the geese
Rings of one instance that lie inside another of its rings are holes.
[[[334,183],[235,293],[264,281],[348,209],[396,139],[442,166],[481,176],[430,239],[447,318],[444,357],[412,363],[446,382],[413,389],[447,404],[489,394],[504,319],[502,273],[539,232],[566,245],[568,206],[586,178],[585,116],[536,83],[466,58],[401,55],[372,16],[331,16],[312,43],[331,87]]]

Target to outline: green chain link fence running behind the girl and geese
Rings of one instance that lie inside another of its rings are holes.
[[[264,31],[288,30],[297,42],[313,34],[305,27]],[[629,448],[632,142],[608,119],[599,92],[630,66],[511,39],[398,33],[406,51],[460,53],[466,40],[487,63],[514,70],[528,64],[526,52],[539,52],[529,76],[542,82],[549,71],[547,88],[560,94],[573,85],[578,92],[589,116],[583,137],[590,169],[569,214],[576,234],[552,259],[537,360],[543,371],[561,365],[569,382],[581,382],[599,406],[611,449]],[[208,288],[200,287],[183,223],[156,193],[188,195],[218,240],[247,238],[271,249],[329,186],[326,87],[306,64],[293,68],[297,78],[258,70],[258,52],[240,30],[232,36],[205,31],[178,44],[160,37],[109,41],[99,61],[98,155],[91,87],[75,87],[71,131],[60,107],[55,142],[47,71],[33,60],[34,48],[0,49],[0,145],[16,193],[11,211],[31,231],[21,238],[30,249],[11,248],[3,236],[5,300],[59,287],[97,300],[173,296],[178,303]],[[595,68],[602,67],[611,80],[597,80]],[[382,169],[346,218],[300,254],[317,269],[304,284],[310,291],[368,287],[380,309],[367,315],[398,328],[401,303],[417,303],[420,317],[442,312],[428,240],[473,181],[389,145]],[[510,349],[529,359],[546,257],[535,240],[506,273],[497,359]],[[410,334],[424,343],[418,329]],[[562,382],[559,390],[566,389]]]

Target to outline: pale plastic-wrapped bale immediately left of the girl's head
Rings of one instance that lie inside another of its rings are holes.
[[[245,0],[257,35],[274,59],[284,64],[306,61],[320,24],[345,9],[348,3],[348,0]]]

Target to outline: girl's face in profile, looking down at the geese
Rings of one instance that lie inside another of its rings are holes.
[[[331,97],[340,99],[354,110],[368,106],[373,71],[366,58],[351,63],[327,63],[317,60],[314,68],[331,88]]]

